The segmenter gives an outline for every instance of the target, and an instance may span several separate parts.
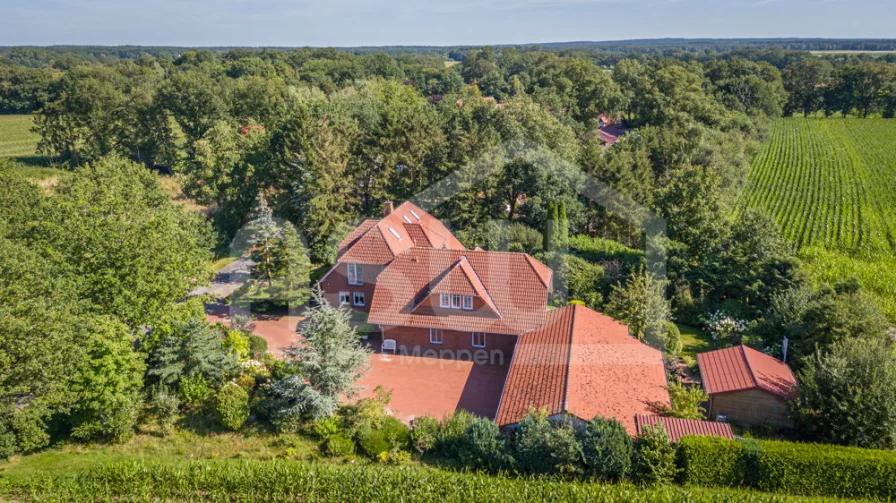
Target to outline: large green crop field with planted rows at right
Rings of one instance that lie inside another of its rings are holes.
[[[762,208],[815,275],[856,277],[896,319],[896,120],[782,119],[750,169]]]

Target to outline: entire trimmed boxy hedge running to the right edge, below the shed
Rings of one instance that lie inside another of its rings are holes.
[[[896,452],[819,444],[685,437],[682,482],[807,496],[896,499]]]

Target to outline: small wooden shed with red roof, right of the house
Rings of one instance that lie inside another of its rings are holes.
[[[697,355],[709,417],[718,420],[790,427],[788,401],[796,396],[796,377],[781,360],[747,346]]]

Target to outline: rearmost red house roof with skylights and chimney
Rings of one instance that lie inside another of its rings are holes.
[[[464,249],[441,221],[405,201],[382,219],[362,222],[339,244],[337,260],[385,265],[415,246]]]

